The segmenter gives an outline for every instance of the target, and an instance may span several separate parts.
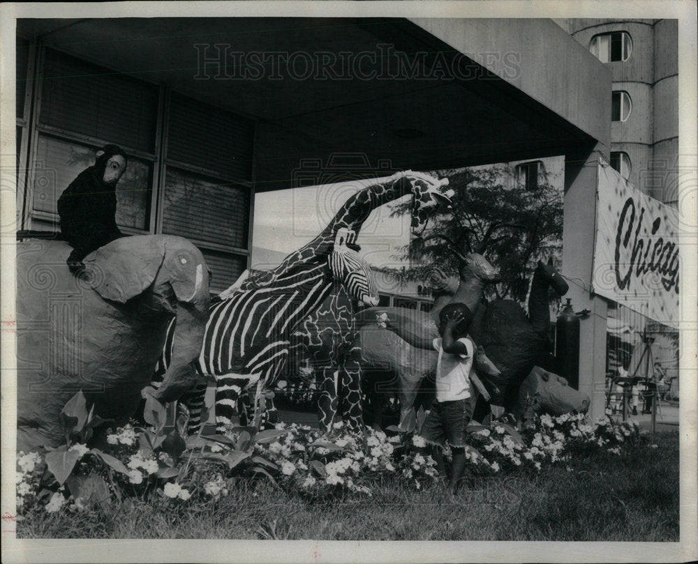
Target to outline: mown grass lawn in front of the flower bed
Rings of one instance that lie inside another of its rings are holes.
[[[240,480],[217,502],[114,503],[17,523],[19,538],[678,541],[678,434],[569,465],[472,479],[456,498],[440,485],[385,480],[373,496],[309,501]]]

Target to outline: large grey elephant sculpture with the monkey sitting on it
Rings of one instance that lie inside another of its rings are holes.
[[[209,311],[209,273],[181,237],[119,238],[66,266],[64,241],[17,243],[17,450],[65,441],[59,413],[82,390],[95,413],[133,416],[174,316],[177,350],[156,399],[170,402],[197,380]]]

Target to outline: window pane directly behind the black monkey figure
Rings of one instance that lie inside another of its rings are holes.
[[[34,211],[57,213],[56,203],[68,184],[94,165],[96,148],[40,135],[34,166]],[[117,184],[117,224],[149,229],[152,165],[128,158]]]

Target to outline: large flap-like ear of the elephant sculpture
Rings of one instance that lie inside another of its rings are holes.
[[[153,284],[165,247],[148,237],[124,237],[87,255],[90,286],[105,300],[126,303]]]

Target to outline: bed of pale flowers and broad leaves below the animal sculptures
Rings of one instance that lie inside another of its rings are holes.
[[[385,476],[416,489],[438,479],[436,462],[414,432],[352,432],[339,423],[322,433],[279,424],[266,431],[230,427],[226,434],[186,436],[186,416],[177,418],[174,429],[165,429],[165,410],[154,400],[145,410],[148,427],[126,425],[106,434],[103,450],[89,448],[91,431],[101,420],[87,413],[84,397],[76,398],[62,418],[68,443],[45,454],[20,452],[17,457],[20,515],[82,510],[124,496],[158,496],[170,503],[216,501],[240,479],[271,480],[309,499],[341,491],[371,496],[372,485]],[[473,424],[469,430],[468,469],[475,475],[535,473],[546,464],[565,464],[599,449],[621,455],[640,441],[637,425],[607,417],[591,423],[583,415],[542,416],[521,433],[500,421]]]

